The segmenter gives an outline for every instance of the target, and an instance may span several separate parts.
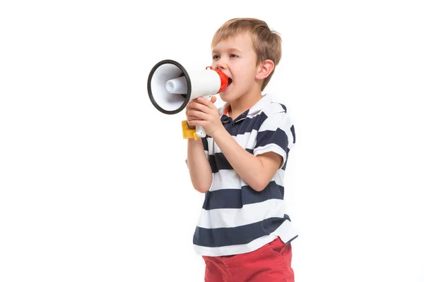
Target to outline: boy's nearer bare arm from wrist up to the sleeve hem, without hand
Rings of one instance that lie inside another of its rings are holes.
[[[266,152],[254,156],[242,148],[225,129],[216,130],[212,137],[240,178],[258,192],[266,188],[281,167],[283,158],[279,154]]]

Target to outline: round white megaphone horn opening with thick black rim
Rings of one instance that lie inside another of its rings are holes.
[[[189,103],[192,82],[180,63],[163,60],[156,63],[148,75],[147,91],[156,109],[164,114],[177,114]]]

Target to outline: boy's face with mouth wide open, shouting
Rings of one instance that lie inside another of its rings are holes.
[[[254,89],[257,55],[248,32],[218,42],[212,49],[212,59],[212,67],[230,78],[231,83],[220,92],[224,102],[232,102]]]

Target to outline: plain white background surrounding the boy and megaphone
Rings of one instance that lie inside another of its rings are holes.
[[[235,17],[283,38],[296,281],[424,281],[420,2],[1,1],[0,281],[203,281],[185,116],[146,85]]]

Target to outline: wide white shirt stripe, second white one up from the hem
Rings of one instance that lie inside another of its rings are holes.
[[[197,226],[201,228],[231,228],[263,221],[271,217],[283,218],[284,214],[284,200],[271,199],[254,204],[245,204],[241,209],[202,209]]]

